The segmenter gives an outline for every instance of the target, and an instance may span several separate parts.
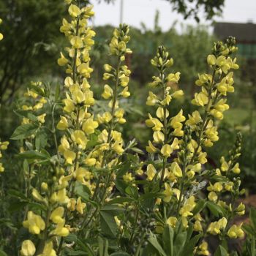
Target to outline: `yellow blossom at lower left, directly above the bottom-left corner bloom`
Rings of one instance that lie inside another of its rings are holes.
[[[45,230],[45,222],[37,214],[34,214],[33,211],[28,212],[28,219],[23,222],[23,227],[29,229],[29,233],[38,235],[42,230]]]

